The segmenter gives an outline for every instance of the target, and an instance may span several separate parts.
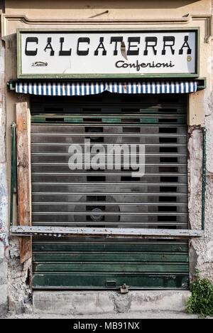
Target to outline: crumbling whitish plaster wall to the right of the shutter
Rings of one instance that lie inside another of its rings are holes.
[[[213,1],[212,14],[213,14]],[[212,43],[212,41],[211,41]],[[205,233],[204,239],[192,240],[190,248],[190,272],[199,269],[202,276],[208,277],[213,283],[213,46],[211,57],[207,59],[207,73],[210,75],[207,89],[203,91],[203,98],[198,100],[198,107],[202,103],[204,109],[203,125],[207,129],[207,183],[205,199]],[[196,95],[191,99],[196,101]],[[196,127],[190,128],[189,149],[189,213],[191,228],[201,227],[202,202],[202,131]]]

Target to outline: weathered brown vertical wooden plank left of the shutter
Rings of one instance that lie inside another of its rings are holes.
[[[31,117],[27,102],[16,103],[18,224],[31,226]],[[32,256],[31,237],[20,239],[20,260]]]

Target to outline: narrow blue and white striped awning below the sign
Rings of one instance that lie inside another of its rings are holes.
[[[95,95],[104,91],[120,94],[180,94],[195,93],[196,90],[195,81],[16,83],[16,93],[46,96]]]

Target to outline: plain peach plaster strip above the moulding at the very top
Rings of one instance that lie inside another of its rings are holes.
[[[187,14],[202,14],[209,12],[209,0],[6,0],[6,14],[25,14],[28,17],[60,18],[75,17],[89,18],[105,13],[105,18],[171,18],[182,17]],[[48,10],[43,11],[43,8]]]

